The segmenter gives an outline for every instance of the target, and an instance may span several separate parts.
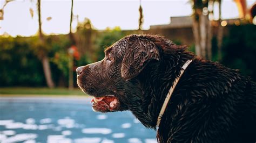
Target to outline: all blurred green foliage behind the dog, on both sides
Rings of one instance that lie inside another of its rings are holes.
[[[89,23],[89,21],[87,21]],[[85,24],[85,23],[84,23]],[[84,28],[86,25],[84,25]],[[82,29],[82,27],[80,27]],[[256,26],[242,25],[230,27],[229,34],[223,40],[223,63],[225,66],[240,69],[242,75],[251,76],[256,81]],[[121,31],[119,27],[105,31],[92,31],[95,36],[91,37],[91,47],[79,46],[78,50],[84,50],[79,60],[75,60],[75,69],[78,66],[102,60],[104,49],[125,35],[138,33],[138,31]],[[79,42],[85,41],[84,32],[77,31]],[[88,39],[87,39],[88,40]],[[172,39],[180,45],[181,40]],[[45,78],[41,61],[38,60],[38,37],[0,37],[0,86],[45,86]],[[68,53],[71,46],[69,35],[49,35],[45,36],[46,49],[50,59],[53,81],[56,85],[68,85]],[[218,58],[217,40],[212,39],[213,61]],[[188,50],[194,52],[194,45]],[[89,56],[93,55],[93,56]],[[96,59],[94,59],[96,57]],[[74,76],[76,81],[76,76]],[[75,82],[76,84],[76,82]]]

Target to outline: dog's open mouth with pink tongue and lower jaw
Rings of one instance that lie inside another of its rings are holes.
[[[120,102],[118,98],[113,95],[107,95],[103,97],[93,97],[91,100],[92,109],[97,112],[113,112],[117,111]]]

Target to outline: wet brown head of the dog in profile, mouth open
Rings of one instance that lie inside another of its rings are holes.
[[[154,35],[128,35],[105,49],[105,58],[77,68],[78,86],[93,96],[93,109],[100,112],[142,109],[145,97],[141,79],[157,69],[163,48],[172,42]],[[172,49],[168,49],[169,51]],[[149,64],[150,63],[150,64]],[[143,111],[142,111],[143,112]]]

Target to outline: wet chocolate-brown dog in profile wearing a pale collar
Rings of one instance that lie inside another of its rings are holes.
[[[93,96],[93,110],[129,110],[157,130],[158,142],[255,142],[256,84],[186,49],[127,35],[103,60],[78,67],[77,84]]]

